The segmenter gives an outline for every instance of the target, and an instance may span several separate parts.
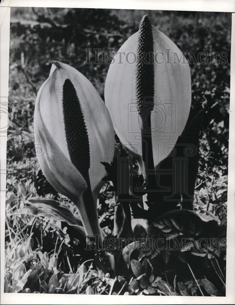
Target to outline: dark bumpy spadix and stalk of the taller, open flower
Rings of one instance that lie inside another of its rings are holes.
[[[148,16],[143,16],[137,40],[137,65],[136,65],[136,96],[138,111],[141,117],[141,140],[142,156],[145,163],[145,170],[154,170],[152,132],[151,132],[151,112],[154,107],[154,43],[153,32]],[[147,56],[148,63],[144,62],[143,56]],[[149,60],[148,60],[149,59]],[[148,175],[147,189],[154,190],[155,176]],[[147,174],[145,174],[147,179]]]

